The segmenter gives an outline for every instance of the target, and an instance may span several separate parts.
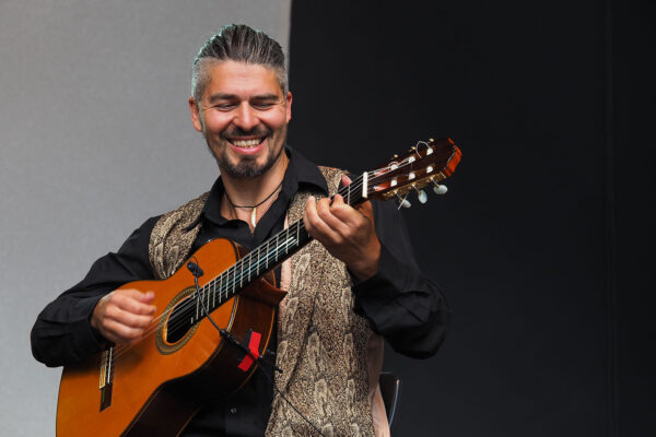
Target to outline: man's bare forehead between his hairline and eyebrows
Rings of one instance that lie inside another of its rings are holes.
[[[215,62],[208,70],[208,85],[203,97],[231,94],[251,97],[263,94],[282,95],[276,70],[257,63],[233,60]]]

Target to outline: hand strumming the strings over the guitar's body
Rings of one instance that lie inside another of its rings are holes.
[[[155,294],[116,290],[103,297],[93,310],[91,327],[114,343],[138,339],[153,320]]]

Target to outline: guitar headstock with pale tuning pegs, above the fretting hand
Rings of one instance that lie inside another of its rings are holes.
[[[440,182],[453,175],[460,156],[460,150],[450,138],[420,141],[406,155],[395,155],[390,162],[368,172],[366,197],[402,199],[408,192],[417,191],[421,200],[421,189],[427,185],[432,185],[436,193],[444,193],[446,187]],[[425,193],[423,196],[425,199]]]

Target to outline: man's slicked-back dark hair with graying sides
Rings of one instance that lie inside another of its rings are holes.
[[[280,88],[283,94],[288,93],[286,66],[280,44],[245,24],[229,24],[211,36],[194,58],[191,95],[197,104],[209,80],[208,64],[225,60],[257,63],[276,70]]]

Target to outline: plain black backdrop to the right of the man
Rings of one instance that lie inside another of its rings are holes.
[[[387,350],[396,435],[655,435],[647,2],[386,3],[293,2],[290,143],[351,172],[462,150],[405,211],[453,323],[433,358]]]

